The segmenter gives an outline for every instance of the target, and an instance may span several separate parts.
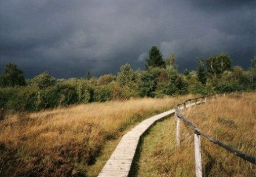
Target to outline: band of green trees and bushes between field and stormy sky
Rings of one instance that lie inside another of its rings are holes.
[[[256,88],[255,57],[247,71],[239,66],[232,67],[231,57],[221,53],[206,60],[199,57],[196,71],[185,69],[179,73],[174,54],[164,59],[158,47],[152,46],[145,61],[145,70],[134,71],[126,63],[117,75],[96,78],[88,72],[85,78],[67,80],[55,79],[48,72],[24,79],[15,64],[7,64],[0,76],[0,108],[10,112],[36,111],[115,99],[189,93],[207,95]]]

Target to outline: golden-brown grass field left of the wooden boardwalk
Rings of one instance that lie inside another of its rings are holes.
[[[8,115],[0,121],[0,176],[97,176],[127,130],[188,97]]]

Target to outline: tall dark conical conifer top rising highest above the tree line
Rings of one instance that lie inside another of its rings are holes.
[[[149,67],[159,67],[164,68],[165,62],[163,61],[163,56],[160,53],[158,47],[152,46],[149,50],[149,57],[146,59],[147,64],[145,65],[146,69]]]

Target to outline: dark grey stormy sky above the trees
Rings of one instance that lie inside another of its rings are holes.
[[[11,62],[26,78],[144,69],[151,46],[174,53],[180,72],[197,57],[228,53],[244,69],[255,56],[255,1],[0,0],[0,72]]]

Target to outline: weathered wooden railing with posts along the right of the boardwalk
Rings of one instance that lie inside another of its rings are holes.
[[[244,92],[239,92],[244,96]],[[215,145],[220,146],[221,148],[224,148],[228,150],[229,152],[235,154],[238,157],[243,158],[246,161],[249,161],[252,164],[256,163],[256,157],[250,156],[249,154],[243,153],[240,150],[237,150],[235,148],[232,148],[229,145],[226,145],[226,143],[221,142],[218,139],[215,139],[211,137],[210,135],[206,134],[205,132],[201,131],[198,127],[195,126],[195,124],[192,123],[188,118],[186,118],[181,113],[181,109],[190,108],[193,105],[197,104],[205,104],[209,101],[214,101],[215,99],[218,99],[218,97],[222,96],[225,97],[227,93],[219,93],[219,94],[211,94],[205,97],[198,97],[193,99],[188,99],[181,104],[178,104],[175,108],[175,124],[176,124],[176,146],[177,148],[180,148],[180,120],[183,120],[184,123],[191,128],[194,131],[194,146],[195,146],[195,173],[196,177],[202,177],[202,157],[201,157],[201,145],[200,145],[200,135],[210,140],[210,142],[213,142]]]

